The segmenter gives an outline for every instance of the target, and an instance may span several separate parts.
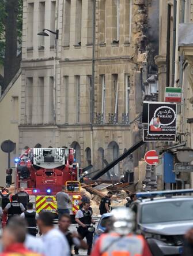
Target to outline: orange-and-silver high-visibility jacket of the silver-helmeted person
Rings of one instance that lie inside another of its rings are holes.
[[[141,235],[106,233],[97,240],[91,256],[152,256]]]

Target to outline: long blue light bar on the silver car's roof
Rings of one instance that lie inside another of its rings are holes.
[[[154,198],[156,196],[169,196],[169,195],[179,195],[179,194],[190,194],[193,193],[192,190],[161,190],[153,192],[139,192],[136,194],[137,198]]]

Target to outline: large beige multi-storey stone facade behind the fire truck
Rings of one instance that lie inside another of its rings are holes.
[[[140,139],[132,121],[142,110],[152,2],[24,0],[20,149],[71,146],[82,167],[101,169]],[[59,38],[37,35],[44,28]]]

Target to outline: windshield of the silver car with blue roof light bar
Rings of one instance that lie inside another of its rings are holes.
[[[147,203],[142,206],[141,223],[193,220],[193,199],[172,202]]]

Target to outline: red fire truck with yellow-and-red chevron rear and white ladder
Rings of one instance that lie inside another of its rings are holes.
[[[74,149],[66,148],[26,149],[16,159],[15,192],[24,187],[37,213],[42,210],[56,213],[55,195],[61,191],[62,185],[66,185],[66,192],[71,198],[70,214],[74,215],[81,199],[79,168],[74,162],[74,154]],[[10,174],[8,170],[9,177]]]

